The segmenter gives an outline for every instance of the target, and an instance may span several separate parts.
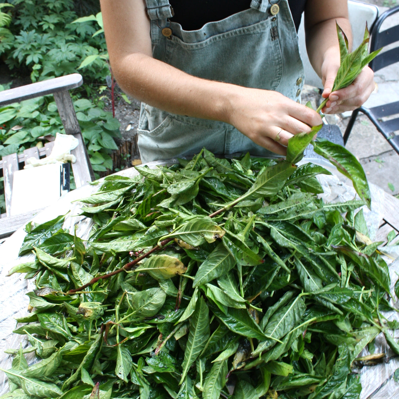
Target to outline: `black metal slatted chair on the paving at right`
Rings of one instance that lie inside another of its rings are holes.
[[[399,25],[381,31],[381,25],[388,18],[399,12],[399,6],[387,10],[378,18],[371,30],[370,52],[381,47],[395,43],[399,38]],[[399,45],[383,51],[370,62],[369,67],[374,71],[399,62]],[[358,113],[362,112],[373,122],[377,130],[388,140],[392,148],[399,154],[399,135],[395,131],[399,130],[399,118],[382,120],[382,118],[391,117],[399,114],[399,101],[379,105],[378,107],[366,108],[360,107],[353,111],[344,134],[344,143],[348,141],[350,132],[355,123]]]

